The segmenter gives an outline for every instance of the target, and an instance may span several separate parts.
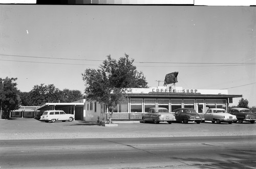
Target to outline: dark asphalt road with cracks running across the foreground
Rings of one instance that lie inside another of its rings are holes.
[[[1,168],[255,168],[256,136],[0,141]]]

